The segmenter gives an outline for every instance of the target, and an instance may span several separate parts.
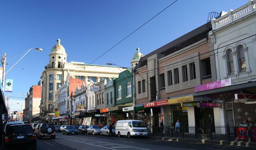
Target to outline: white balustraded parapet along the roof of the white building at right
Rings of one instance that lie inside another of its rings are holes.
[[[236,20],[239,20],[240,18],[252,14],[253,12],[256,12],[256,0],[251,0],[244,6],[236,10],[230,10],[230,12],[227,12],[226,14],[222,15],[217,19],[212,19],[212,30],[222,28],[223,26],[226,26]],[[223,13],[225,12],[222,12],[222,14]]]

